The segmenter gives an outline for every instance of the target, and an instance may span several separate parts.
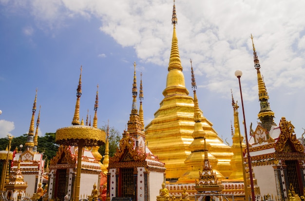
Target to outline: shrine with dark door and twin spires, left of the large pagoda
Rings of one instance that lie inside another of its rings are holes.
[[[140,85],[140,108],[137,110],[137,86],[134,63],[133,103],[127,131],[119,143],[119,149],[109,159],[107,194],[129,198],[133,201],[153,201],[159,195],[159,188],[165,181],[165,167],[147,147],[144,133],[143,89]]]

